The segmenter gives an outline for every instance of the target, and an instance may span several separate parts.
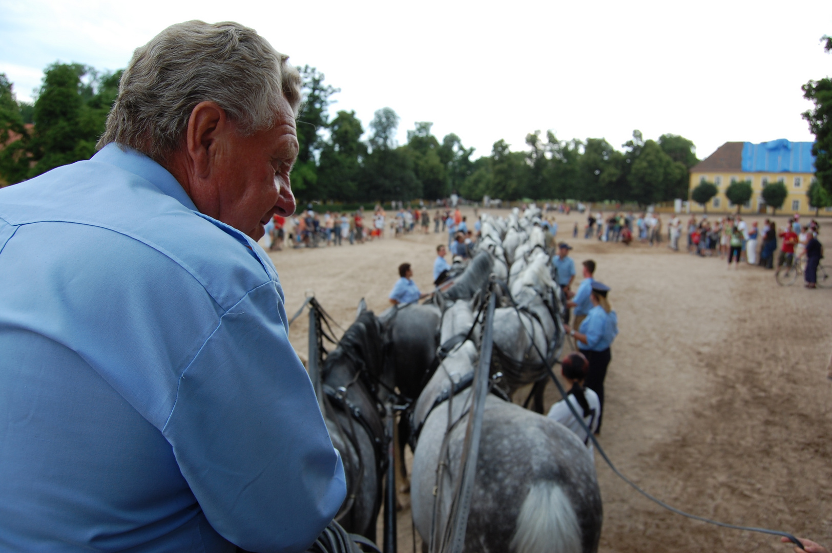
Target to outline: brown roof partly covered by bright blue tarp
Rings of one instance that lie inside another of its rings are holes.
[[[812,142],[790,142],[781,138],[776,141],[726,142],[693,166],[691,171],[700,173],[718,171],[741,171],[745,173],[814,173],[815,156],[812,156]]]

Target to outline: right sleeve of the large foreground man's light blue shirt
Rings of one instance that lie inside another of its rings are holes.
[[[210,525],[247,551],[305,551],[346,493],[275,283],[229,309],[162,429]]]

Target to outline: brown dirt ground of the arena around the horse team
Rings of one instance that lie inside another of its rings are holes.
[[[620,333],[601,443],[617,467],[684,511],[832,546],[832,289],[780,287],[773,271],[745,264],[729,271],[724,259],[675,253],[666,242],[651,248],[582,239],[584,215],[555,216],[557,238],[574,246],[577,267],[594,259],[596,278],[612,287]],[[572,239],[576,221],[581,232]],[[820,223],[824,261],[832,265],[832,220]],[[434,248],[443,241],[447,235],[431,232],[271,257],[290,315],[314,292],[345,328],[361,298],[377,313],[386,309],[400,263],[413,264],[422,291],[432,289]],[[305,317],[290,332],[302,358],[306,332]],[[547,388],[547,407],[556,394]],[[791,551],[772,536],[663,511],[599,455],[596,466],[600,551]],[[399,501],[399,551],[411,551],[409,496]]]

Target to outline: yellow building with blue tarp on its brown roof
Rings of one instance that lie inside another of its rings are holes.
[[[726,198],[726,188],[737,180],[749,180],[754,192],[748,203],[742,206],[745,213],[770,213],[761,192],[765,185],[782,182],[786,190],[789,190],[789,195],[779,212],[815,215],[815,208],[810,207],[809,196],[806,195],[815,181],[815,158],[811,149],[812,142],[726,142],[691,169],[688,189],[691,212],[701,213],[705,210],[702,205],[690,200],[691,190],[699,183],[712,182],[719,190],[708,202],[708,212],[727,213],[735,212],[736,206]],[[820,212],[832,215],[832,208],[824,208]]]

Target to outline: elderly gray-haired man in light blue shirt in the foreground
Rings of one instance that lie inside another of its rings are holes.
[[[255,242],[295,210],[286,59],[168,27],[92,160],[0,190],[0,549],[304,551],[341,505]]]

